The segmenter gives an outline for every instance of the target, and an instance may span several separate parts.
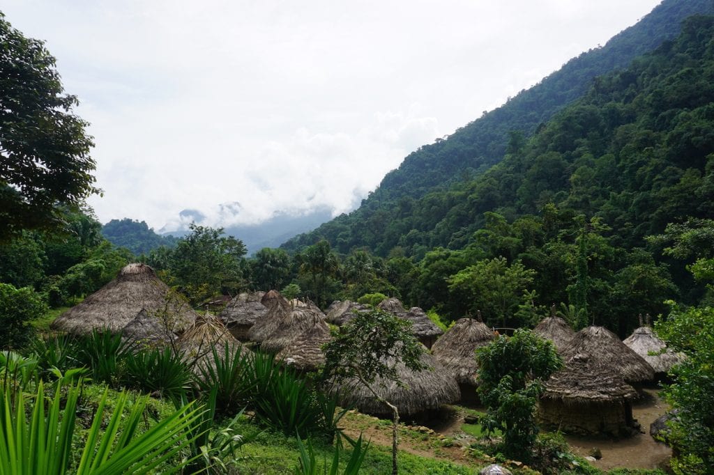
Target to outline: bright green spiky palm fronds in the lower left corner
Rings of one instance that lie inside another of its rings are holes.
[[[29,423],[26,420],[26,396],[16,394],[13,404],[7,390],[0,393],[0,473],[61,475],[72,468],[79,475],[146,474],[169,460],[169,468],[162,467],[162,470],[174,473],[190,461],[180,460],[178,455],[197,436],[187,437],[186,434],[196,424],[199,409],[187,404],[144,434],[138,434],[147,398],[129,405],[129,395],[121,393],[109,423],[104,427],[105,391],[91,428],[84,437],[79,463],[70,467],[80,392],[81,382],[66,391],[58,385],[45,408],[44,387],[39,382]],[[64,401],[64,409],[61,409],[61,401]],[[125,409],[128,415],[124,414]]]

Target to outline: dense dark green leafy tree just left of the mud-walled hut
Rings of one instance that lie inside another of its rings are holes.
[[[476,359],[478,395],[488,406],[481,419],[484,429],[488,434],[503,432],[503,454],[530,461],[538,434],[535,405],[543,394],[543,381],[563,367],[563,360],[553,343],[525,329],[476,349]]]

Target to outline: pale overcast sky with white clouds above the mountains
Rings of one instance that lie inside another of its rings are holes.
[[[102,223],[353,209],[659,0],[3,0],[91,123]],[[236,204],[236,203],[239,203]],[[221,206],[221,204],[223,206]],[[186,223],[183,223],[184,225]]]

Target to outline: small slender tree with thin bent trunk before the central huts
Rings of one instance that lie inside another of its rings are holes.
[[[341,327],[340,332],[323,349],[326,359],[324,380],[356,379],[375,399],[391,409],[392,473],[397,474],[399,411],[394,404],[378,394],[376,384],[379,384],[378,380],[382,384],[401,384],[397,372],[400,362],[412,371],[426,369],[421,362],[423,346],[411,333],[411,322],[381,310],[372,310]]]

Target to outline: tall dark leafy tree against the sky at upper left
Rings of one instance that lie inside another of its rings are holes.
[[[0,241],[61,225],[94,187],[89,125],[73,113],[55,58],[0,13]]]

